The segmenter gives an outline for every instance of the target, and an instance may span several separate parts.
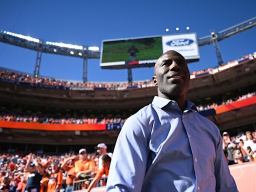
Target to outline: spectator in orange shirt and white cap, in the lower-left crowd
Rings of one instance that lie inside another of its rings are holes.
[[[79,160],[74,163],[75,177],[80,178],[82,174],[90,174],[95,167],[95,162],[87,158],[88,154],[85,148],[79,150]]]

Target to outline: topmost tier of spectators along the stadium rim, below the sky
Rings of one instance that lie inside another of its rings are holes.
[[[242,63],[246,60],[256,58],[256,52],[248,54],[238,58],[236,60],[223,63],[221,66],[215,68],[207,68],[204,70],[193,71],[190,78],[197,78],[203,75],[214,74],[221,70],[233,67]],[[81,81],[67,81],[62,79],[55,79],[49,77],[33,77],[31,74],[16,72],[9,69],[0,68],[0,80],[8,80],[12,83],[28,83],[31,86],[44,86],[44,87],[55,87],[61,89],[72,89],[72,90],[89,90],[89,89],[123,89],[123,88],[143,88],[147,86],[153,86],[150,80],[135,81],[130,83],[127,82],[81,82]]]

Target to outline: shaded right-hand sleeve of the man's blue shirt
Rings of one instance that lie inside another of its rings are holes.
[[[216,148],[216,158],[214,162],[214,174],[216,179],[216,192],[236,192],[235,181],[230,174],[225,155],[222,149],[222,138],[218,134],[217,148]]]

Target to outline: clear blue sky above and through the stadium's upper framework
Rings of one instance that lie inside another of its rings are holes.
[[[2,0],[0,30],[45,41],[101,46],[104,39],[196,32],[210,34],[256,16],[255,0]],[[256,51],[256,27],[219,42],[223,61]],[[217,65],[213,45],[199,47],[190,71]],[[32,73],[36,52],[0,42],[0,66]],[[40,74],[82,79],[82,59],[43,53]],[[151,79],[153,67],[132,69],[133,80]],[[127,70],[88,60],[89,81],[127,81]]]

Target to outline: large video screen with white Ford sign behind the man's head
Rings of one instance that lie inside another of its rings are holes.
[[[165,36],[103,40],[101,68],[131,68],[153,66],[167,50],[181,53],[187,62],[199,60],[195,33]]]

